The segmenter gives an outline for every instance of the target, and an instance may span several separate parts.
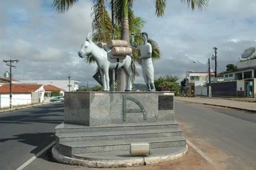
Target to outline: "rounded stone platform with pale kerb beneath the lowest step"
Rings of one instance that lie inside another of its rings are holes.
[[[151,149],[149,156],[130,156],[129,151],[97,152],[90,154],[75,154],[72,158],[62,155],[55,146],[52,154],[55,160],[69,165],[79,165],[94,168],[118,168],[143,166],[161,163],[181,158],[188,147],[169,147]]]

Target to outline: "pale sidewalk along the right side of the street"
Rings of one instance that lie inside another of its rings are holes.
[[[256,112],[256,103],[242,102],[230,99],[218,99],[218,98],[200,98],[200,97],[175,97],[176,101],[200,103],[205,105],[223,106],[233,109],[247,110],[250,112]]]

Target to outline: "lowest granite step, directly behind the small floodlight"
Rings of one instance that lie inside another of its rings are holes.
[[[150,148],[182,147],[186,145],[185,137],[155,137],[143,139],[119,139],[119,140],[98,140],[98,141],[78,141],[62,142],[56,146],[61,154],[71,156],[73,154],[109,152],[130,150],[131,143],[150,143]]]

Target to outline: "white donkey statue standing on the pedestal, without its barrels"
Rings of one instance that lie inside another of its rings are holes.
[[[109,91],[109,75],[108,71],[113,69],[125,69],[126,74],[126,89],[125,91],[131,91],[131,80],[133,78],[132,73],[132,58],[126,56],[123,59],[119,59],[120,62],[116,62],[116,58],[111,58],[111,51],[107,52],[104,49],[95,45],[92,41],[92,32],[90,32],[86,41],[83,42],[80,51],[78,52],[79,57],[84,58],[85,56],[91,55],[96,61],[98,68],[100,69],[101,80],[103,83],[103,91]]]

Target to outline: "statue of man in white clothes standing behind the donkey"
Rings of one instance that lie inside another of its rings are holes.
[[[154,67],[152,63],[152,47],[148,43],[148,34],[141,33],[141,37],[144,41],[143,45],[134,44],[134,34],[131,34],[131,45],[140,50],[141,67],[145,83],[147,84],[148,91],[156,91],[154,84]]]

